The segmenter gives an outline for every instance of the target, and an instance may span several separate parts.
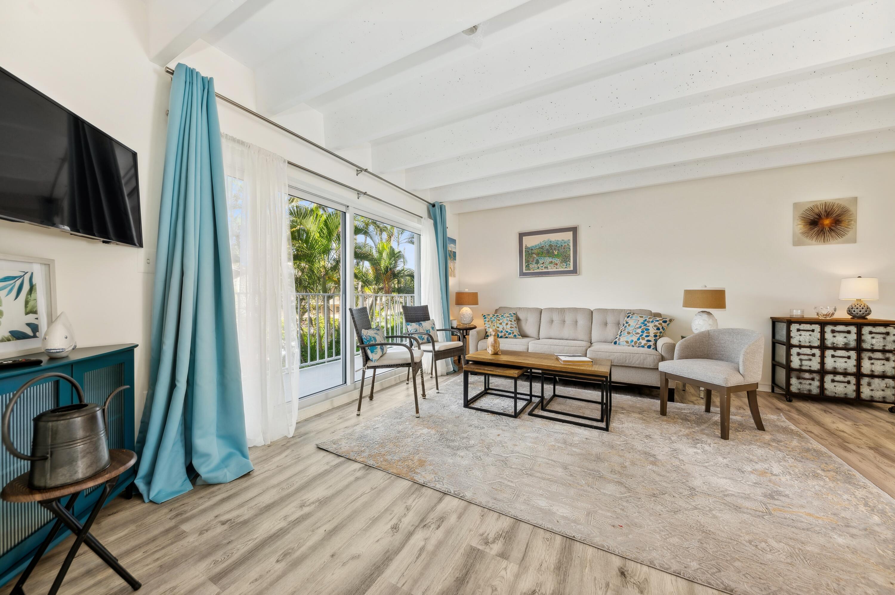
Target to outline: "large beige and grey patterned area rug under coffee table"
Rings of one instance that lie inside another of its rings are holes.
[[[721,440],[717,409],[662,417],[617,390],[603,432],[464,409],[446,384],[420,418],[398,406],[318,446],[720,591],[895,593],[895,500],[781,415],[762,432],[731,414]]]

